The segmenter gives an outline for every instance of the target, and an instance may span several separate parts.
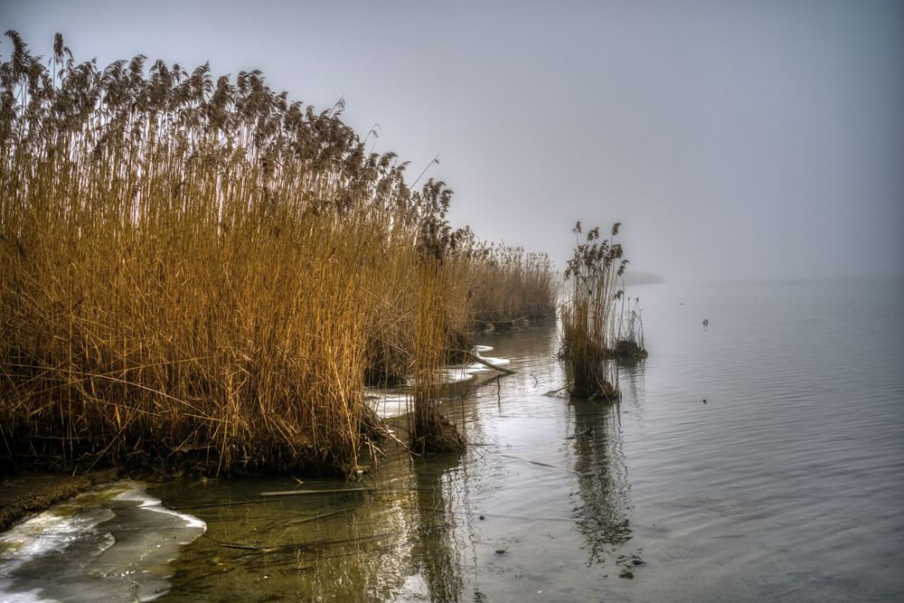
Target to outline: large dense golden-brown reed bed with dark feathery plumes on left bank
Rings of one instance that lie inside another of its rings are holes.
[[[365,379],[408,374],[428,438],[490,280],[445,184],[410,187],[342,101],[317,113],[259,71],[100,70],[59,34],[49,61],[7,36],[0,457],[351,472]]]

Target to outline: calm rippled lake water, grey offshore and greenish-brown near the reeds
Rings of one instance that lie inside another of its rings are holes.
[[[904,599],[904,282],[632,295],[650,357],[616,406],[544,395],[554,327],[485,335],[518,373],[457,386],[460,457],[150,488],[207,524],[160,600]]]

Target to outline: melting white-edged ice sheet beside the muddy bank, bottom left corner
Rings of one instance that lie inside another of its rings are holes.
[[[0,600],[147,601],[204,523],[124,480],[57,504],[0,534]]]

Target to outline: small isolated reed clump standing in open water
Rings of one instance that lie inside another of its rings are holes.
[[[613,224],[606,240],[600,240],[598,228],[590,229],[583,241],[578,238],[565,269],[570,291],[561,306],[560,356],[570,393],[579,398],[617,400],[617,372],[607,359],[646,355],[639,299],[625,303],[628,260],[616,242],[620,226]],[[572,232],[582,234],[580,222]]]

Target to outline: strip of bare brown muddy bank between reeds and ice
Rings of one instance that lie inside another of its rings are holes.
[[[33,513],[118,476],[118,469],[99,469],[77,476],[47,473],[0,476],[0,532]]]

